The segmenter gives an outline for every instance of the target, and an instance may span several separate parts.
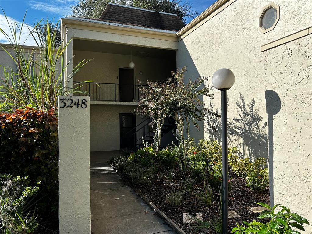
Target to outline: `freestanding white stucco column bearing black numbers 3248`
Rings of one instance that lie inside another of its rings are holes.
[[[59,96],[60,234],[90,234],[90,100]]]

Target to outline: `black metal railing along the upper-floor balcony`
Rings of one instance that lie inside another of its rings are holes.
[[[90,96],[93,101],[133,102],[139,101],[141,86],[95,82],[73,82],[74,95]]]

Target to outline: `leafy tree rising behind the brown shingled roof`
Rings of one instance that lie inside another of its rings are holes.
[[[183,1],[182,4],[181,0],[79,0],[76,6],[71,7],[72,15],[98,19],[109,2],[177,14],[184,23],[185,17],[194,18],[198,14],[188,2]]]

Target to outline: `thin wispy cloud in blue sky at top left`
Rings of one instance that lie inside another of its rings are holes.
[[[27,2],[28,6],[32,9],[62,16],[71,14],[71,6],[74,3],[75,1],[72,0],[67,1],[56,0],[49,2],[31,0]]]

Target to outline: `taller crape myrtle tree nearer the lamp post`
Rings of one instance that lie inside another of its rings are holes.
[[[177,140],[178,140],[178,161],[180,169],[184,170],[184,165],[187,157],[187,144],[191,139],[190,124],[193,124],[196,129],[200,130],[198,121],[206,122],[206,115],[218,115],[217,113],[208,110],[204,107],[204,102],[201,100],[205,95],[208,99],[213,99],[213,86],[206,87],[204,81],[208,77],[199,76],[192,80],[189,78],[186,82],[184,73],[186,67],[178,69],[176,72],[172,71],[172,77],[168,79],[167,92],[167,108],[170,116],[173,117],[177,126]],[[209,123],[207,123],[209,125]],[[187,139],[184,136],[186,133]]]

